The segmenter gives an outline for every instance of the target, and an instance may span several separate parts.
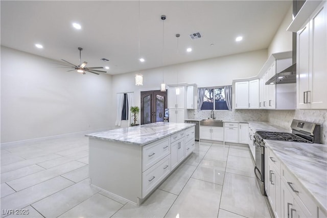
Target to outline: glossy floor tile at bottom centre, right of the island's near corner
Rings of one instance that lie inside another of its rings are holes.
[[[191,178],[165,217],[217,217],[222,186]]]

